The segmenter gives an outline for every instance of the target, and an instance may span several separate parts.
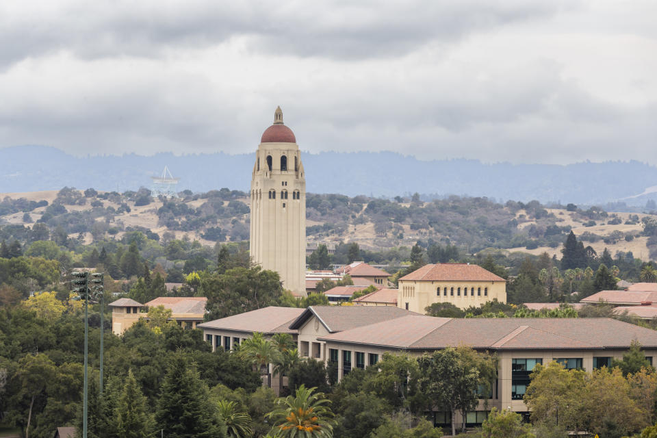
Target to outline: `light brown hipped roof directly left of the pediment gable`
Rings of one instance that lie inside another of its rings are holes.
[[[304,311],[305,309],[296,307],[270,306],[219,320],[203,322],[196,326],[203,329],[224,329],[247,333],[296,333],[296,330],[289,329],[289,325]]]

